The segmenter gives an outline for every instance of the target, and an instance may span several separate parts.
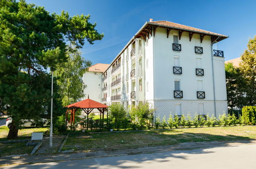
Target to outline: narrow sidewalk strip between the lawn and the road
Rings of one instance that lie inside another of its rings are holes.
[[[142,147],[138,149],[126,149],[126,150],[114,150],[114,151],[92,151],[92,152],[78,152],[78,153],[60,153],[52,155],[30,155],[30,156],[16,156],[16,157],[0,157],[0,166],[13,165],[13,164],[26,164],[26,163],[46,163],[53,161],[66,161],[85,158],[99,158],[110,156],[123,156],[134,154],[146,154],[156,152],[166,152],[174,150],[189,150],[220,146],[238,146],[243,144],[256,144],[256,140],[238,140],[238,141],[212,141],[212,142],[190,142],[180,143],[176,145],[168,146],[154,146],[154,147]]]

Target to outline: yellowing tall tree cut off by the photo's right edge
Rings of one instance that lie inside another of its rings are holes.
[[[241,56],[239,69],[244,77],[246,88],[246,104],[255,105],[255,89],[256,89],[256,36],[250,39],[247,48]]]

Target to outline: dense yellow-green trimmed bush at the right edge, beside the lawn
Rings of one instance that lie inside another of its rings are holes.
[[[256,106],[245,106],[242,109],[242,118],[246,125],[256,124]]]

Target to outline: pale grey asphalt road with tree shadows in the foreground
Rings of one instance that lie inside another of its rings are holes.
[[[5,168],[256,168],[256,144],[11,165]]]

